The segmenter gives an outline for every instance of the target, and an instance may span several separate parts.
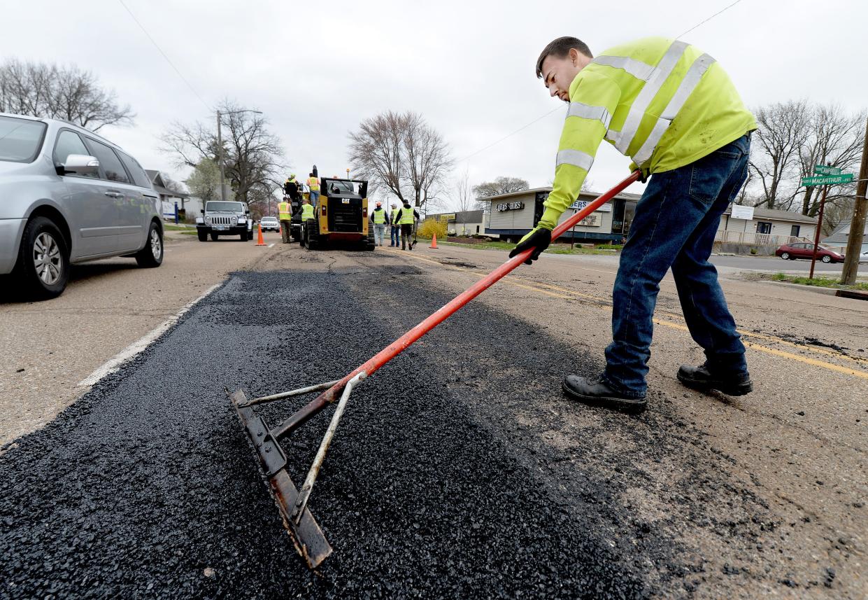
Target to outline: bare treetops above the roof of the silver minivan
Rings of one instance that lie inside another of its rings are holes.
[[[91,131],[131,125],[135,117],[90,71],[14,58],[0,65],[0,112],[62,119]]]

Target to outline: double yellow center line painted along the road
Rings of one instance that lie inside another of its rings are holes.
[[[391,252],[392,254],[398,254],[398,253],[395,253],[394,251],[391,251],[391,250],[388,252]],[[411,258],[411,259],[415,259],[415,260],[422,260],[424,262],[430,262],[432,265],[436,265],[437,267],[441,267],[441,268],[445,267],[448,269],[452,269],[454,271],[462,271],[464,273],[473,274],[477,277],[484,277],[485,275],[487,275],[487,274],[480,274],[477,271],[474,271],[473,269],[469,269],[466,267],[457,267],[456,265],[450,265],[447,263],[443,263],[443,262],[440,262],[439,260],[426,259],[426,258],[423,258],[423,257],[418,256],[418,255],[401,254],[401,256],[406,256],[407,258]],[[520,287],[522,289],[526,289],[526,290],[529,290],[531,292],[544,293],[544,294],[546,294],[548,296],[552,296],[554,298],[561,298],[562,300],[575,300],[575,297],[579,296],[582,298],[588,298],[590,300],[602,301],[604,303],[607,303],[607,305],[611,304],[611,300],[600,298],[598,296],[593,296],[593,295],[590,295],[588,293],[575,292],[573,290],[567,289],[566,287],[558,287],[558,286],[555,286],[552,284],[546,284],[546,283],[539,283],[536,281],[524,280],[524,279],[514,277],[514,276],[505,277],[503,279],[503,281],[510,284],[510,286],[513,286],[513,287]],[[519,282],[521,282],[521,283],[519,283]],[[542,287],[538,287],[538,286],[542,286]],[[548,287],[549,289],[543,289],[543,287]],[[552,292],[550,290],[556,290],[556,292]],[[562,293],[557,293],[557,292],[562,292]],[[607,312],[611,312],[610,306],[602,306],[602,307],[599,305],[590,305],[590,306],[595,306],[595,307],[600,308],[602,310],[605,310]],[[666,314],[667,316],[671,316],[671,317],[674,317],[677,319],[682,319],[681,315],[679,315],[679,314],[675,314],[675,313],[663,313],[663,314]],[[682,323],[674,323],[673,321],[663,320],[663,319],[660,319],[657,317],[654,317],[654,323],[661,325],[661,326],[670,327],[672,329],[678,329],[681,331],[689,331],[687,329],[687,326],[683,325]],[[799,344],[794,344],[791,341],[781,340],[780,338],[776,338],[776,337],[771,336],[771,335],[764,335],[762,333],[751,333],[751,332],[743,331],[741,329],[739,329],[737,331],[743,336],[753,337],[753,338],[757,338],[759,340],[769,340],[769,341],[773,341],[777,344],[783,344],[786,346],[794,346],[794,347],[799,348],[800,350],[807,350],[807,351],[811,351],[811,352],[815,352],[815,353],[821,353],[821,354],[829,354],[829,355],[832,355],[838,359],[849,359],[849,360],[852,360],[852,361],[857,362],[857,363],[859,363],[860,360],[863,360],[863,359],[860,359],[858,357],[852,357],[852,356],[847,356],[846,354],[835,353],[835,352],[832,352],[831,350],[826,350],[825,348],[814,348],[814,347],[808,347],[808,346],[801,346]],[[799,354],[788,353],[788,352],[784,352],[782,350],[775,350],[774,348],[770,348],[768,346],[760,346],[759,344],[755,344],[751,341],[745,341],[744,344],[746,347],[751,348],[752,350],[756,350],[757,352],[772,354],[773,356],[778,356],[779,358],[795,360],[797,362],[804,363],[806,365],[819,366],[820,368],[828,369],[829,371],[834,371],[836,373],[845,373],[847,375],[853,375],[855,377],[860,377],[862,379],[868,379],[868,373],[865,373],[862,371],[855,371],[855,370],[848,368],[846,366],[836,365],[836,364],[831,363],[831,362],[826,362],[825,360],[812,359],[812,358],[808,358],[806,356],[799,356]]]

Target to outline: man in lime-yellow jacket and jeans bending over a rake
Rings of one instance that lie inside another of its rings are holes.
[[[681,366],[678,379],[703,391],[751,392],[745,347],[708,262],[720,215],[746,179],[756,129],[727,73],[678,40],[649,37],[594,57],[575,37],[560,37],[542,50],[536,76],[569,109],[545,211],[510,256],[533,248],[530,262],[549,246],[602,140],[633,159],[642,181],[650,176],[615,277],[606,369],[598,380],[568,375],[564,392],[583,402],[645,407],[651,319],[670,267],[687,328],[706,354],[701,366]]]

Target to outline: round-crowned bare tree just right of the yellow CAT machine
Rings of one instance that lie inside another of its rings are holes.
[[[370,181],[371,195],[391,192],[419,208],[444,200],[453,161],[443,136],[422,115],[388,111],[365,119],[349,135],[352,170]]]

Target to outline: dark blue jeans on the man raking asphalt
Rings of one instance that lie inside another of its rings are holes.
[[[747,175],[751,137],[746,134],[681,168],[657,173],[636,205],[615,276],[612,343],[602,381],[627,398],[648,389],[652,316],[660,281],[669,267],[684,320],[714,374],[747,373],[745,346],[708,262],[720,215]]]

